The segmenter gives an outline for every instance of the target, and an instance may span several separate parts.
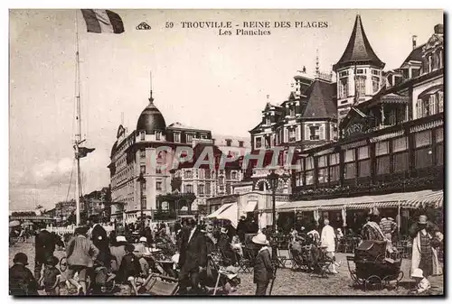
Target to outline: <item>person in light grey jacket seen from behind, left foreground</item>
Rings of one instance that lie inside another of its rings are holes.
[[[79,295],[86,295],[87,275],[98,257],[99,249],[87,238],[88,227],[77,227],[75,236],[67,245],[68,281],[79,291]],[[79,281],[74,280],[75,272],[79,272]]]

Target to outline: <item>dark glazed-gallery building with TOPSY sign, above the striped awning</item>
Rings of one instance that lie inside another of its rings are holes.
[[[338,142],[298,160],[293,199],[444,188],[442,28],[384,74],[376,95],[351,108]]]

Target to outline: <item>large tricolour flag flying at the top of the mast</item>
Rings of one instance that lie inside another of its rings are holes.
[[[108,10],[81,10],[88,32],[124,32],[121,17]]]

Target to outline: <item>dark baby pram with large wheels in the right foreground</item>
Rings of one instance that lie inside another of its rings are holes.
[[[397,286],[403,279],[401,260],[400,254],[387,252],[385,241],[363,241],[354,256],[347,256],[347,265],[355,286],[363,286],[364,290],[382,289],[391,283]]]

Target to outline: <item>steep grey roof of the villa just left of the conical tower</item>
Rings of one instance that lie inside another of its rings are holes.
[[[337,106],[333,100],[334,86],[331,83],[315,79],[307,89],[308,97],[306,109],[302,115],[304,118],[336,118]]]

